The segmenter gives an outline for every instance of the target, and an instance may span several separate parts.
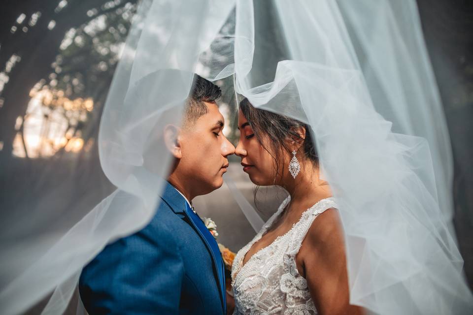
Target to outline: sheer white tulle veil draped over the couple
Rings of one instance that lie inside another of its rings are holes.
[[[101,166],[117,189],[47,239],[2,250],[12,270],[2,313],[51,291],[43,313],[62,313],[82,267],[152,218],[170,161],[160,127],[179,123],[194,72],[233,75],[254,106],[311,126],[339,205],[352,304],[383,315],[472,310],[450,228],[448,132],[413,0],[143,0],[101,118]],[[34,259],[13,268],[21,257]]]

